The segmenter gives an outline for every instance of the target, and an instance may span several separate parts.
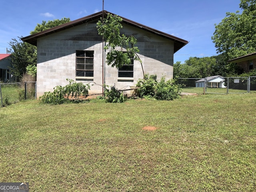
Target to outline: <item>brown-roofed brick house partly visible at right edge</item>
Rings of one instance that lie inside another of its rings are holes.
[[[236,63],[244,72],[249,72],[256,68],[256,52],[228,60],[228,63]]]

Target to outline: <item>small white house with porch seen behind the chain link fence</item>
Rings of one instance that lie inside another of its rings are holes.
[[[196,81],[196,87],[204,87],[205,86],[205,80],[207,81],[207,85],[206,85],[207,87],[210,87],[210,88],[226,88],[226,86],[224,85],[225,78],[220,76],[220,75],[200,79],[200,80]]]

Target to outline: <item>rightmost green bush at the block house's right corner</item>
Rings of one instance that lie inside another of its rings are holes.
[[[156,86],[157,100],[174,100],[181,98],[181,85],[174,84],[174,80],[167,80],[162,77]]]

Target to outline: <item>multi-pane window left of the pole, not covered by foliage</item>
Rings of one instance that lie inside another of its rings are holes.
[[[93,77],[94,51],[76,51],[76,76]]]

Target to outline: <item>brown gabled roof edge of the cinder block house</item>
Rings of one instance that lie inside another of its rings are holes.
[[[112,14],[112,13],[104,10],[104,11],[101,11],[101,12],[98,12],[98,13],[95,13],[95,14],[91,14],[89,16],[86,16],[86,17],[83,17],[83,18],[80,18],[80,19],[77,19],[77,20],[74,20],[74,21],[71,21],[71,22],[68,22],[68,23],[62,24],[60,26],[50,28],[48,30],[45,30],[45,31],[42,31],[42,32],[39,32],[39,33],[36,33],[36,34],[26,36],[24,38],[21,38],[21,40],[36,46],[38,38],[41,38],[41,37],[44,37],[44,36],[47,36],[47,35],[50,35],[50,34],[53,34],[53,33],[68,29],[68,28],[72,28],[74,26],[78,26],[78,25],[81,25],[81,24],[84,24],[84,23],[97,22],[102,17],[102,12],[104,13],[104,18],[106,18],[106,15],[108,13]],[[114,15],[114,14],[112,14],[112,15]],[[162,36],[162,37],[167,38],[169,40],[173,40],[174,41],[174,53],[177,52],[178,50],[180,50],[186,44],[188,44],[188,41],[183,40],[181,38],[178,38],[178,37],[172,36],[170,34],[161,32],[159,30],[150,28],[148,26],[139,24],[137,22],[126,19],[124,17],[121,17],[121,18],[122,18],[122,22],[124,24],[128,24],[130,26],[140,28],[142,30],[145,30],[145,31],[151,32],[153,34],[156,34],[158,36]]]

